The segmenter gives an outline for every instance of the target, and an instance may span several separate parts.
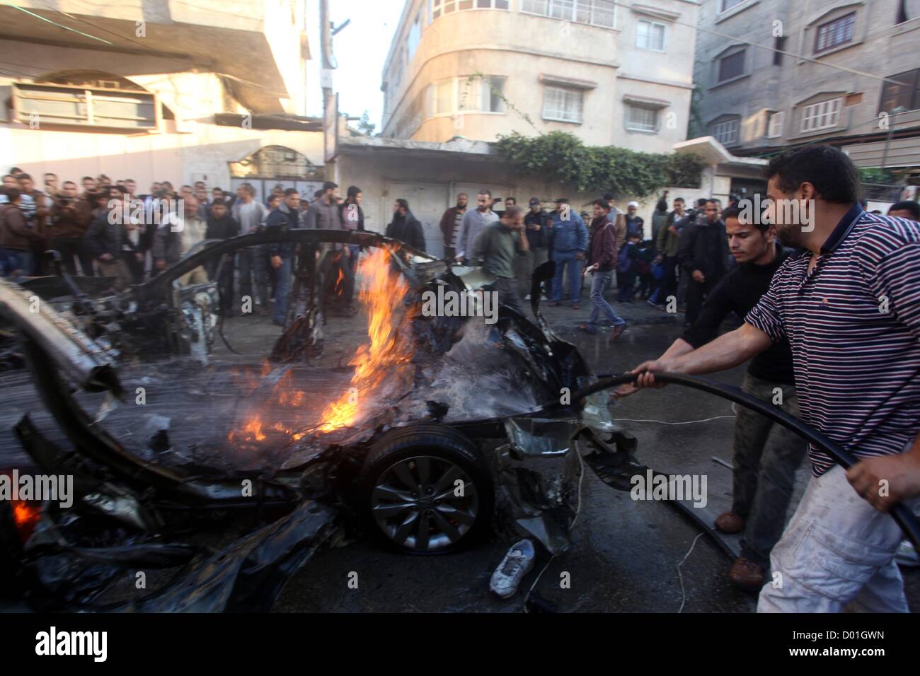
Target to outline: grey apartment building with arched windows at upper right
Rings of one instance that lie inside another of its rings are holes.
[[[704,0],[696,132],[735,155],[832,143],[920,166],[918,29],[917,0]]]

